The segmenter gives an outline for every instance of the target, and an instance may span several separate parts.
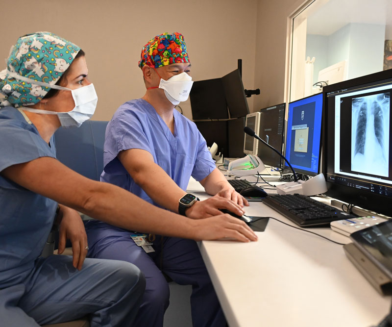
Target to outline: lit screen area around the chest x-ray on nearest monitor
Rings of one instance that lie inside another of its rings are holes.
[[[353,186],[359,178],[392,185],[391,91],[390,82],[328,95],[335,107],[334,171],[353,178]]]

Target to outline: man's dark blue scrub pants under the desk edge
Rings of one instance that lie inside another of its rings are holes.
[[[145,275],[146,291],[135,326],[163,326],[163,316],[169,306],[169,286],[162,272],[180,285],[192,285],[194,327],[226,326],[221,305],[195,241],[157,235],[153,242],[155,252],[146,253],[133,242],[130,238],[133,232],[128,230],[89,221],[86,232],[89,257],[128,261]]]

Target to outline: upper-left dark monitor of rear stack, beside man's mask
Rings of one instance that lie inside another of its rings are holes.
[[[193,120],[229,118],[221,78],[195,81],[189,96]]]

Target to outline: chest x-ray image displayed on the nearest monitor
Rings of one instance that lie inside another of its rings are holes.
[[[352,99],[352,171],[388,176],[389,108],[389,92]]]

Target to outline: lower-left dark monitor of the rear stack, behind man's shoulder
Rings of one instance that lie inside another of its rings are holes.
[[[221,152],[224,157],[229,156],[227,121],[205,121],[195,122],[195,124],[207,142],[208,147],[211,147],[215,142],[218,145],[218,152]]]

